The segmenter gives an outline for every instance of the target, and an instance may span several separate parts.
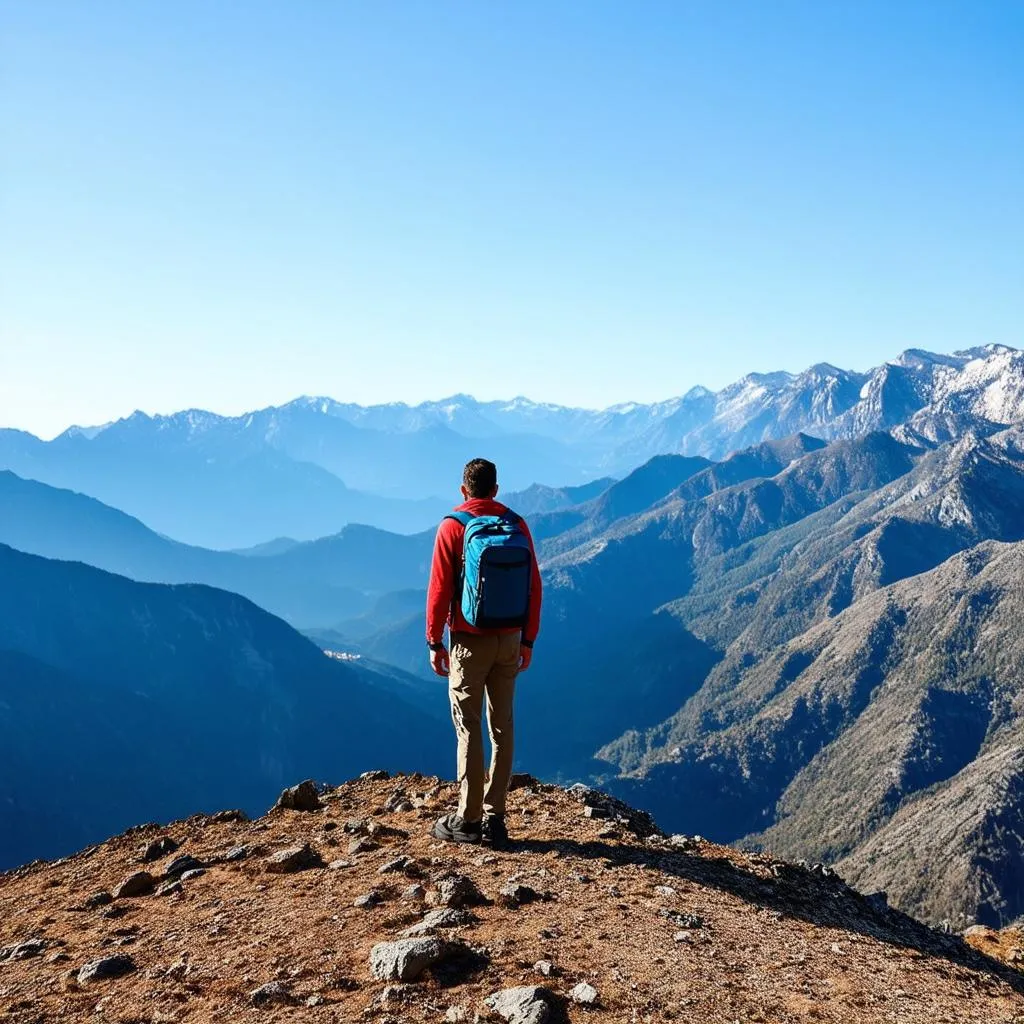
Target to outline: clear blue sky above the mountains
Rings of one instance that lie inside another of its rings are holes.
[[[0,425],[1024,343],[1016,0],[0,12]]]

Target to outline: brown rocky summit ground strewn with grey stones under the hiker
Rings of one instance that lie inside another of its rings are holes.
[[[507,852],[430,838],[452,785],[371,773],[0,876],[0,1020],[1024,1022],[1017,933],[517,781]]]

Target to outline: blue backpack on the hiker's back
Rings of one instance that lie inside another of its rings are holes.
[[[452,512],[444,518],[461,522],[466,531],[455,593],[466,622],[481,630],[525,626],[534,552],[519,516]]]

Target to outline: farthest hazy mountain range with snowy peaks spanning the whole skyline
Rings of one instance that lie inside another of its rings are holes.
[[[553,513],[582,501],[553,492],[623,477],[655,455],[721,461],[798,433],[831,440],[873,430],[934,445],[1022,420],[1024,352],[988,346],[909,350],[865,373],[820,364],[750,374],[719,392],[601,411],[454,395],[370,408],[307,397],[240,417],[136,413],[49,442],[0,431],[0,469],[88,494],[179,540],[238,549],[351,522],[426,529],[476,456],[499,464],[507,494],[546,485],[523,500]]]

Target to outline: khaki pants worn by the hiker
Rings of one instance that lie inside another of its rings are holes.
[[[449,697],[459,740],[459,816],[479,821],[505,813],[512,774],[512,697],[519,672],[516,633],[456,633],[452,637]],[[483,697],[487,698],[490,772],[484,783]]]

